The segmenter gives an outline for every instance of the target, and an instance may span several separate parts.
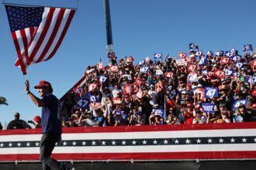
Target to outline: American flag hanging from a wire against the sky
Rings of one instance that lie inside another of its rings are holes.
[[[5,5],[23,74],[32,63],[54,56],[74,16],[74,9]]]

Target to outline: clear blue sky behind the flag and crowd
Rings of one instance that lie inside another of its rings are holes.
[[[29,5],[75,7],[71,0],[12,0]],[[118,59],[133,56],[136,62],[154,53],[177,57],[189,52],[189,43],[199,49],[240,52],[245,44],[256,49],[256,1],[254,0],[110,0],[112,38]],[[70,28],[55,56],[47,62],[29,66],[22,75],[16,61],[4,5],[0,5],[0,96],[9,106],[0,106],[2,124],[19,112],[23,120],[32,120],[41,109],[24,92],[24,81],[31,87],[47,80],[54,94],[62,97],[83,75],[86,66],[106,64],[106,29],[102,0],[80,0]],[[31,88],[37,95],[37,91]]]

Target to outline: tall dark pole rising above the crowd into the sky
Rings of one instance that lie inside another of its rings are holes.
[[[113,42],[112,42],[112,28],[111,28],[109,0],[104,0],[104,9],[105,9],[106,36],[107,36],[106,48],[108,53],[112,53],[114,52],[114,49],[113,49]]]

